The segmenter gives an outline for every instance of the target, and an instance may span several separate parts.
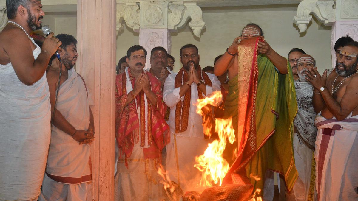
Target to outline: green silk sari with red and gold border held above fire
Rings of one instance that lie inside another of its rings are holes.
[[[257,54],[261,36],[241,40],[238,46],[238,155],[223,184],[246,168],[261,178],[250,178],[263,189],[266,170],[285,176],[290,191],[297,178],[292,148],[293,119],[297,112],[291,68],[280,74],[266,55]]]

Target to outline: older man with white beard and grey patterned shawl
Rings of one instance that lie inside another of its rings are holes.
[[[310,181],[317,134],[317,129],[314,126],[316,113],[312,105],[313,86],[306,79],[306,75],[311,69],[317,69],[315,59],[311,55],[303,54],[297,62],[299,78],[295,81],[298,111],[294,119],[293,148],[298,178],[293,189],[296,201],[306,201],[309,197],[312,198],[314,193],[310,192]],[[312,184],[314,185],[314,183]]]

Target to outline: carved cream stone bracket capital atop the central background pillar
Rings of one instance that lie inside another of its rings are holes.
[[[202,10],[196,3],[183,1],[141,1],[140,3],[117,4],[117,31],[123,28],[122,20],[134,31],[139,29],[183,28],[187,21],[195,36],[200,38],[205,22]]]

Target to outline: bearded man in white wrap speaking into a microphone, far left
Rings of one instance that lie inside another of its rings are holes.
[[[61,42],[29,37],[45,15],[40,0],[6,0],[0,33],[0,200],[36,200],[50,141],[46,68]]]

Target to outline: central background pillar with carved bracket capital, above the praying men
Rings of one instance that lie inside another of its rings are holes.
[[[117,0],[117,30],[123,28],[122,21],[125,20],[127,26],[139,31],[139,44],[148,52],[145,68],[150,68],[150,51],[154,47],[162,46],[170,53],[170,32],[185,26],[189,18],[189,26],[196,37],[200,37],[205,27],[202,11],[196,3],[138,1],[126,3],[126,0]]]

